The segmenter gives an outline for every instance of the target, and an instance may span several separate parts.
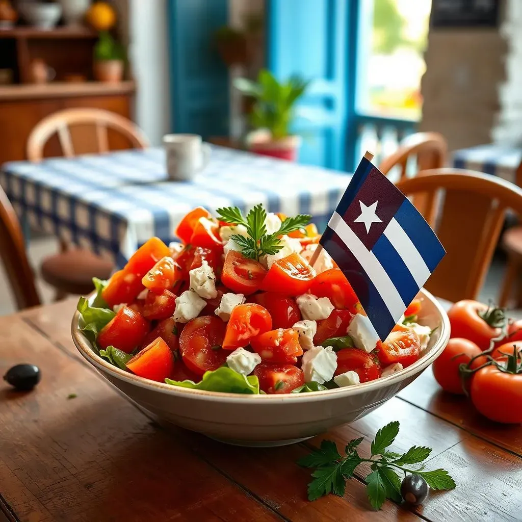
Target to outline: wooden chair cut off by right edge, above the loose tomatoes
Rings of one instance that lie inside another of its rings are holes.
[[[522,161],[515,173],[515,183],[522,187]],[[519,281],[522,271],[522,227],[518,226],[506,230],[502,238],[502,246],[507,254],[507,267],[500,291],[499,306],[507,306],[509,298],[516,288],[518,308],[522,304],[522,285]]]

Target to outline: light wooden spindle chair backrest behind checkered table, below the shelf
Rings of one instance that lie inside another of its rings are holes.
[[[75,128],[85,131],[86,127],[90,127],[88,138],[85,132],[72,132]],[[41,161],[45,144],[54,134],[57,135],[63,156],[66,158],[86,152],[85,150],[75,152],[74,141],[77,145],[76,150],[80,146],[85,146],[85,141],[89,141],[89,144],[92,143],[96,148],[89,152],[108,152],[108,129],[113,129],[122,135],[134,148],[143,149],[148,146],[147,138],[139,127],[120,114],[102,109],[65,109],[46,116],[32,129],[27,140],[27,159]]]

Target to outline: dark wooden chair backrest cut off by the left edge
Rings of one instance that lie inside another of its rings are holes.
[[[7,272],[19,310],[40,304],[34,274],[27,259],[23,234],[15,210],[0,187],[0,259]]]

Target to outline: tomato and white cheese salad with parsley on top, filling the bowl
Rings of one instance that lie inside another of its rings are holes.
[[[306,393],[373,381],[415,362],[431,330],[414,300],[381,342],[310,216],[262,205],[195,208],[151,238],[96,294],[80,328],[100,357],[173,386]]]

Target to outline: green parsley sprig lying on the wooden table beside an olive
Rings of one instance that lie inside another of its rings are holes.
[[[432,449],[424,446],[412,446],[406,453],[388,451],[399,433],[399,422],[390,422],[375,435],[371,445],[370,458],[362,458],[357,447],[364,437],[355,438],[345,448],[346,457],[339,454],[335,442],[324,440],[319,449],[299,460],[298,464],[306,468],[316,468],[313,480],[308,484],[309,500],[317,500],[323,495],[345,493],[346,479],[351,479],[355,469],[362,462],[370,462],[371,473],[366,477],[366,493],[374,509],[381,509],[386,498],[400,502],[400,472],[416,473],[424,478],[431,489],[450,490],[455,488],[455,481],[444,469],[424,471],[422,462]],[[412,467],[413,465],[413,467]]]

